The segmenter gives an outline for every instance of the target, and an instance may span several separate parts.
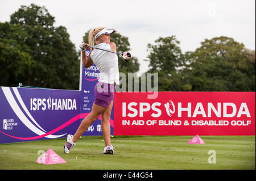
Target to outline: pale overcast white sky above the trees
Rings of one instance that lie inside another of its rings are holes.
[[[130,53],[141,64],[139,73],[148,69],[147,44],[159,37],[175,35],[183,53],[218,36],[255,50],[255,0],[0,0],[0,22],[9,22],[20,5],[31,3],[45,6],[55,17],[54,26],[65,26],[77,49],[91,28],[113,28],[128,37]]]

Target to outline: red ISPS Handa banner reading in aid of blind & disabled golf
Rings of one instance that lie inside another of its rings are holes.
[[[115,135],[255,135],[255,92],[115,92]]]

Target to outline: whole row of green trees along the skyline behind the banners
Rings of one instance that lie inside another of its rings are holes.
[[[79,89],[80,50],[67,28],[39,6],[20,6],[10,22],[0,22],[0,86],[23,85]],[[82,41],[88,42],[88,31]],[[115,32],[118,52],[130,50],[129,38]],[[205,39],[193,52],[182,53],[176,36],[159,37],[147,45],[148,71],[158,73],[159,91],[255,91],[255,50],[232,37]],[[137,57],[119,60],[119,71],[139,71]],[[142,83],[142,82],[139,82]]]

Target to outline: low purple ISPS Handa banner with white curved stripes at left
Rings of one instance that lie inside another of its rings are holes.
[[[74,134],[80,125],[81,92],[0,87],[0,144]]]

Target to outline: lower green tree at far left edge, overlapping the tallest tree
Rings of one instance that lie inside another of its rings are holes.
[[[1,86],[17,86],[20,80],[30,81],[36,62],[30,56],[30,48],[24,44],[27,36],[20,25],[0,23]]]

